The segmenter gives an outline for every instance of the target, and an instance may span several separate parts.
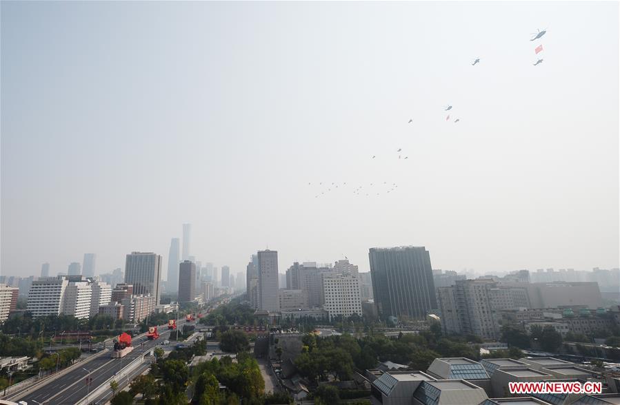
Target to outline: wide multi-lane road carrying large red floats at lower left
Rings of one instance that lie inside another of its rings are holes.
[[[179,322],[179,326],[184,322]],[[41,388],[32,391],[25,397],[19,398],[21,401],[25,401],[30,404],[45,404],[45,405],[66,405],[76,404],[81,399],[94,391],[97,387],[105,384],[110,377],[117,374],[121,369],[127,366],[133,360],[153,349],[158,344],[168,338],[170,331],[166,325],[157,327],[159,332],[159,339],[147,340],[146,335],[143,337],[137,337],[132,340],[132,346],[134,349],[120,359],[112,359],[112,351],[109,355],[103,354],[90,362],[86,362],[83,367],[77,367],[70,373],[58,377]],[[90,386],[86,384],[86,377],[92,378]],[[123,377],[125,380],[126,377]],[[126,381],[119,381],[119,385],[123,385]],[[94,398],[93,398],[94,400]],[[90,403],[90,398],[88,398]]]

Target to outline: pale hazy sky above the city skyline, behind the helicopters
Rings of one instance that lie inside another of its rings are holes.
[[[167,264],[183,222],[232,274],[267,245],[281,273],[395,245],[618,267],[618,28],[617,2],[2,1],[1,273]]]

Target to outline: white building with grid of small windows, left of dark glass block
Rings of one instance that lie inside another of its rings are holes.
[[[323,273],[323,297],[330,320],[339,315],[348,318],[361,312],[359,278],[351,273]]]

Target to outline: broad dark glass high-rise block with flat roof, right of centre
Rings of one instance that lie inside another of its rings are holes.
[[[370,249],[372,294],[382,318],[424,319],[437,309],[430,254],[424,247]]]

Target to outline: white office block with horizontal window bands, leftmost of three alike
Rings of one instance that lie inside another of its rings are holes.
[[[60,277],[41,278],[32,282],[28,294],[27,309],[32,318],[60,315],[64,307],[65,290],[69,280]]]

